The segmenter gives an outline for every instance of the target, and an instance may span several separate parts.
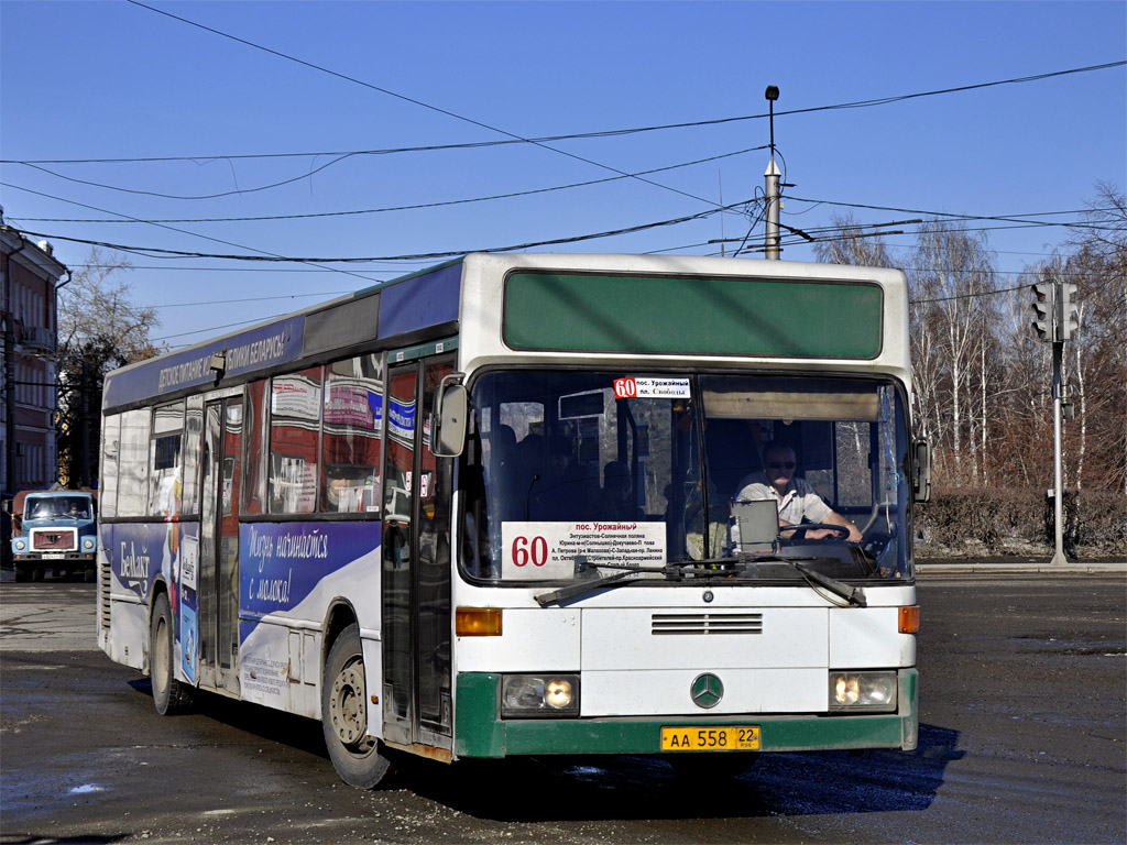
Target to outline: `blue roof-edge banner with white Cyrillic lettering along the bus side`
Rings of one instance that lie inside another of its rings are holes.
[[[215,380],[215,372],[208,366],[211,356],[224,352],[225,375],[239,375],[296,361],[301,357],[304,327],[304,317],[293,317],[213,340],[207,346],[154,358],[133,370],[110,373],[106,377],[104,403],[106,407],[116,407],[171,393],[181,388],[210,384]]]

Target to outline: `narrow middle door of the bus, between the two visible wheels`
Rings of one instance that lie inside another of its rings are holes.
[[[242,397],[204,409],[199,513],[199,683],[239,692]]]

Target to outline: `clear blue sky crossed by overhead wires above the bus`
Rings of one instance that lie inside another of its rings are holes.
[[[766,119],[339,161],[329,154],[232,157],[749,117],[765,114],[767,84],[781,91],[775,143],[793,184],[782,216],[791,226],[816,229],[846,211],[828,203],[1029,215],[1085,207],[1095,199],[1097,180],[1127,187],[1122,65],[786,114],[1122,62],[1121,0],[145,2],[340,75],[124,0],[2,0],[0,203],[8,223],[47,234],[56,257],[76,268],[89,247],[63,238],[198,254],[396,257],[695,215],[715,210],[721,193],[734,204],[762,192],[767,152],[742,151],[767,143]],[[74,162],[166,157],[190,160]],[[16,163],[47,159],[69,163],[37,166],[56,175]],[[645,177],[660,186],[618,178],[454,202],[702,159],[713,160]],[[291,181],[258,189],[283,180]],[[202,196],[212,198],[172,198]],[[434,205],[372,213],[421,204]],[[866,223],[917,216],[877,208],[853,214]],[[232,220],[282,215],[302,216]],[[73,222],[130,219],[190,222]],[[751,223],[739,211],[713,213],[543,249],[710,255],[719,249],[710,240],[743,238]],[[1005,273],[1020,272],[1070,234],[1061,226],[986,225]],[[758,224],[748,242],[762,238]],[[906,250],[913,238],[888,242]],[[795,246],[783,257],[807,260],[811,252]],[[130,260],[135,299],[158,306],[153,337],[174,347],[436,263]]]

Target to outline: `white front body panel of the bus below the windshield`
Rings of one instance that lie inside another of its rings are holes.
[[[531,603],[548,589],[459,587],[456,603],[476,606],[486,595],[494,606]],[[898,632],[898,608],[915,604],[914,586],[869,588],[866,607],[831,606],[807,587],[712,587],[710,603],[703,589],[622,587],[566,608],[505,607],[502,635],[458,638],[456,669],[579,673],[580,715],[615,717],[701,713],[689,688],[704,671],[725,684],[709,713],[825,713],[831,669],[915,665],[915,637]],[[760,631],[655,633],[671,614],[758,616]]]

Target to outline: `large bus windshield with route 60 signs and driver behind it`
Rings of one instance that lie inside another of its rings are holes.
[[[891,380],[520,370],[482,374],[471,394],[471,579],[912,575]]]

